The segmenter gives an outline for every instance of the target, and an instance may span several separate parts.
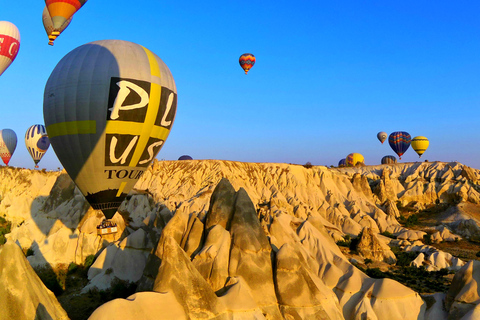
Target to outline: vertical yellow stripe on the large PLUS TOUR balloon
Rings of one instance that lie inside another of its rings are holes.
[[[150,63],[150,74],[152,76],[160,78],[160,67],[158,65],[155,55],[145,47],[142,47],[145,50],[145,53],[148,57],[148,62]],[[135,152],[133,153],[132,159],[130,160],[130,166],[136,167],[140,157],[145,150],[152,130],[155,125],[155,120],[157,119],[158,106],[160,105],[160,97],[162,94],[162,86],[158,83],[151,82],[150,84],[150,101],[148,102],[147,114],[145,116],[145,122],[143,123],[142,131],[140,133],[140,138],[138,139],[137,146],[135,147]],[[168,131],[168,130],[167,130]]]

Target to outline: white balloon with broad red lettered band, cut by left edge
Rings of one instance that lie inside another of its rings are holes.
[[[0,75],[15,60],[20,48],[20,32],[8,21],[0,21]]]

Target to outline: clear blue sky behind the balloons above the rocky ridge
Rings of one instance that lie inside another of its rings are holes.
[[[33,168],[27,128],[60,59],[103,39],[141,44],[169,66],[178,108],[157,156],[337,165],[351,152],[394,154],[379,131],[426,136],[421,161],[480,168],[480,1],[89,0],[53,47],[44,2],[8,1],[20,30],[0,77],[0,129],[18,136],[13,166]],[[257,62],[246,76],[238,57]],[[417,161],[410,148],[402,161]],[[50,148],[41,168],[60,167]]]

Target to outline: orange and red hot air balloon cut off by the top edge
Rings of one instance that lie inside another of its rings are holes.
[[[86,2],[87,0],[45,0],[53,24],[52,36],[59,36],[62,26]]]

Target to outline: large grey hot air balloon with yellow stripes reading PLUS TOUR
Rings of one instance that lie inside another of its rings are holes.
[[[50,75],[43,101],[58,159],[106,219],[160,151],[176,109],[177,90],[165,63],[121,40],[95,41],[68,53]]]

